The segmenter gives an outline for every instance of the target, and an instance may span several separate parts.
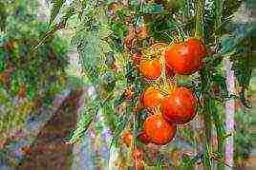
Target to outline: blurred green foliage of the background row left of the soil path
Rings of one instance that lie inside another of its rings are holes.
[[[66,85],[68,43],[54,35],[34,49],[48,28],[37,8],[35,0],[17,0],[0,9],[0,134],[51,104]]]

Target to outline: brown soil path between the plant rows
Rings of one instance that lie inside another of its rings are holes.
[[[80,91],[71,94],[56,111],[53,119],[45,125],[27,156],[21,170],[69,170],[72,165],[72,145],[67,137],[75,129],[77,103]]]

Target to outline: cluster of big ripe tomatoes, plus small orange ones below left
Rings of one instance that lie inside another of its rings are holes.
[[[174,139],[177,125],[190,122],[196,115],[197,100],[193,92],[173,82],[175,74],[190,75],[203,66],[205,47],[201,40],[188,38],[170,46],[154,44],[149,51],[137,51],[132,56],[141,76],[149,83],[139,98],[149,116],[138,139],[164,145]],[[126,144],[129,139],[133,139],[132,134],[124,133]],[[134,151],[137,160],[141,158],[140,152]]]

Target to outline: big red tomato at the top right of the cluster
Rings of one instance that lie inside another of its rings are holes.
[[[174,43],[165,52],[167,66],[179,74],[192,74],[203,66],[205,47],[195,38],[185,42]]]

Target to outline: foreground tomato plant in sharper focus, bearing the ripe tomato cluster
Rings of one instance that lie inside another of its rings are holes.
[[[122,148],[122,131],[133,129],[134,137],[144,132],[151,142],[168,142],[166,148],[170,150],[183,149],[175,143],[189,145],[192,154],[181,151],[181,155],[187,156],[180,164],[182,167],[191,168],[199,163],[207,169],[217,163],[218,169],[222,169],[224,141],[228,137],[224,102],[240,99],[249,107],[245,92],[252,70],[247,52],[252,44],[248,38],[252,29],[248,23],[240,25],[230,20],[242,7],[242,1],[88,0],[69,5],[61,2],[52,2],[46,37],[58,29],[70,28],[69,19],[77,19],[72,27],[72,46],[77,48],[83,71],[96,91],[96,98],[89,99],[70,141],[80,140],[87,128],[96,123],[94,118],[101,115],[112,131],[112,143],[118,148]],[[67,9],[66,13],[55,21],[62,8]],[[227,67],[223,65],[226,60],[232,62],[240,86],[234,94],[227,88]],[[185,84],[181,85],[181,79]],[[151,95],[148,86],[158,86],[160,90],[154,89]],[[213,88],[220,91],[215,93]],[[158,106],[159,91],[168,96],[162,107]],[[144,109],[141,103],[152,108]],[[202,123],[191,123],[194,116]],[[212,142],[212,132],[217,134],[217,142]],[[175,133],[177,138],[171,142]],[[135,146],[146,144],[137,143],[139,138],[133,140]],[[217,149],[212,149],[216,146]],[[168,151],[159,151],[160,156],[170,155]],[[132,157],[129,152],[125,154]],[[158,167],[173,164],[154,156],[143,157],[140,162]]]

